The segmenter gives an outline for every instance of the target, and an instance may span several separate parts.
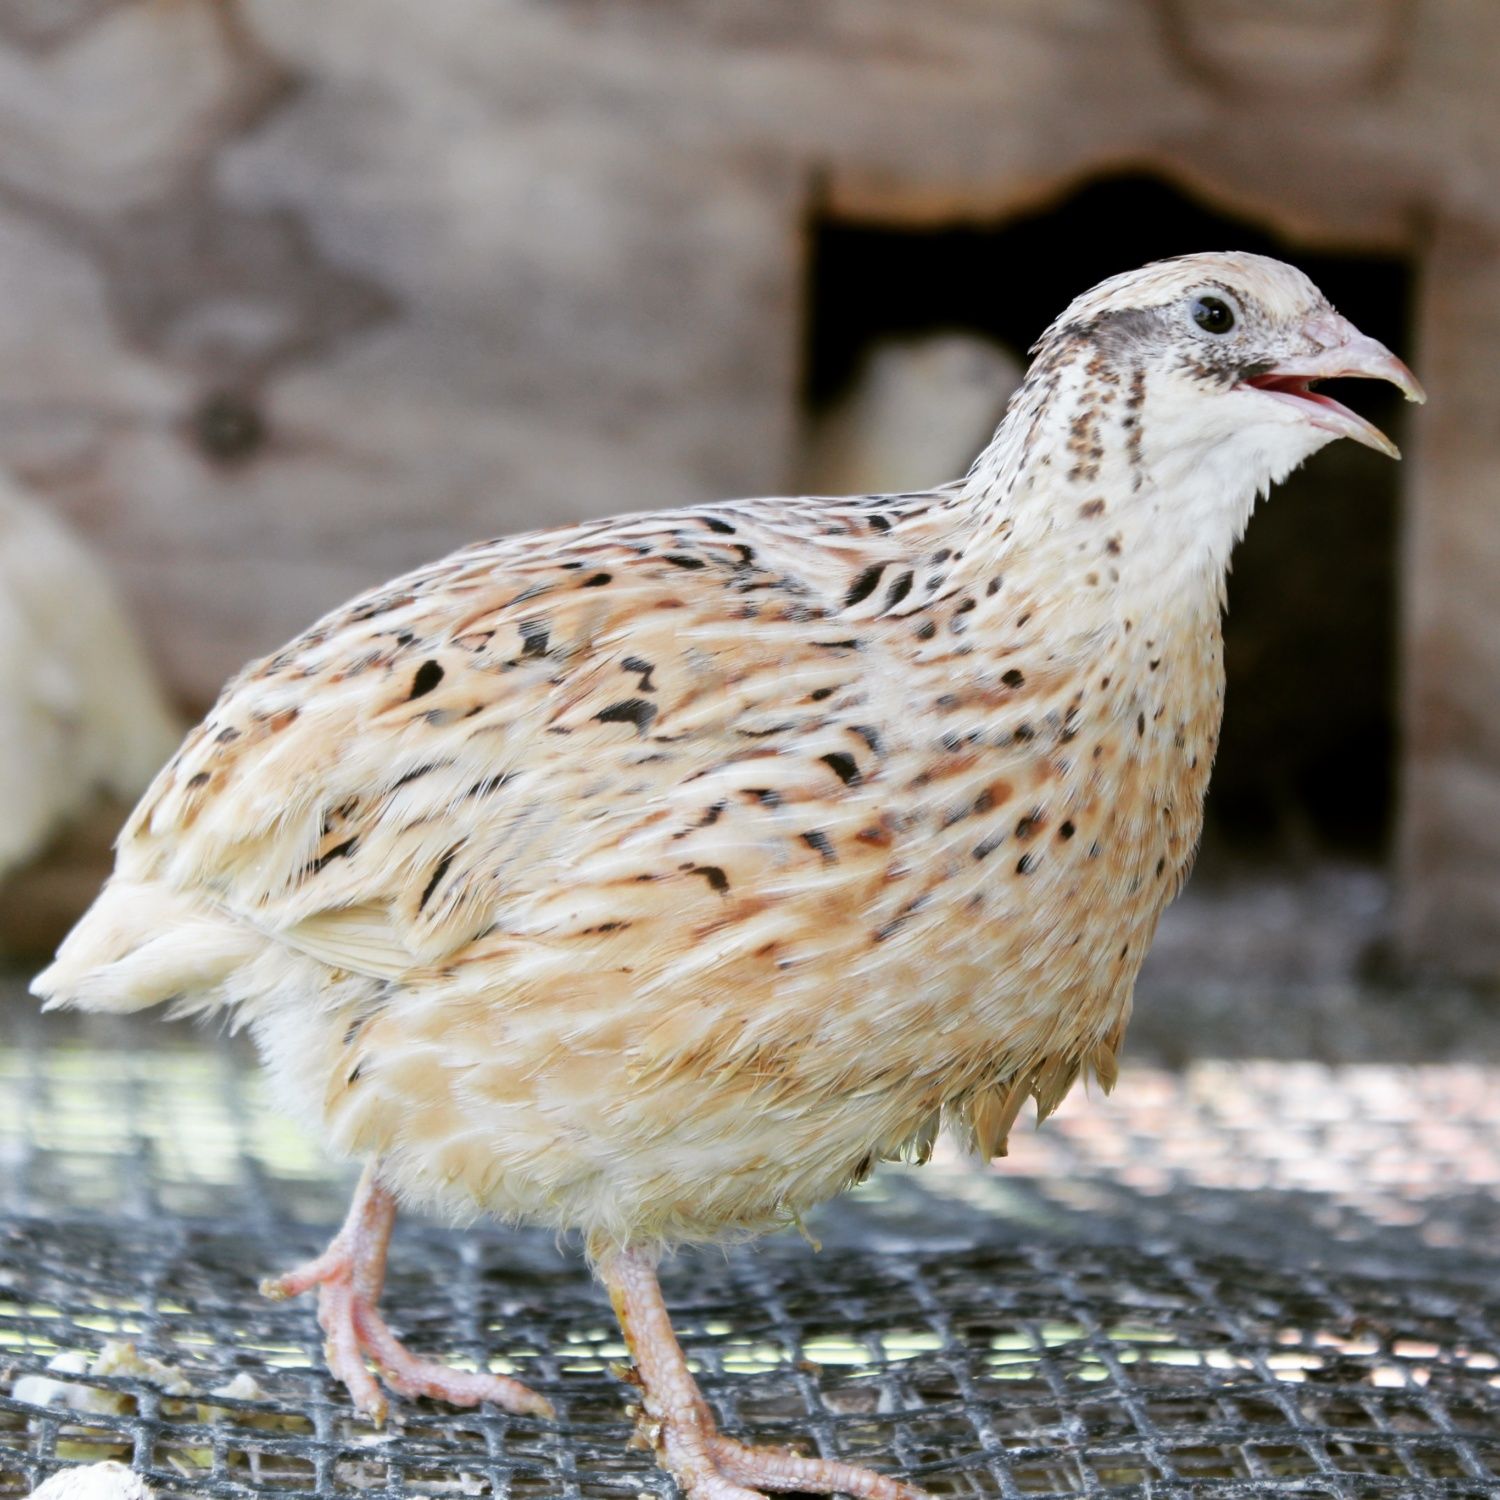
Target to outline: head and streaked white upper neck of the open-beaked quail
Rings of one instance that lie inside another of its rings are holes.
[[[1400,456],[1318,381],[1384,380],[1425,399],[1383,344],[1263,255],[1184,255],[1113,276],[1032,352],[966,492],[1042,530],[1107,507],[1143,543],[1138,567],[1222,568],[1256,496],[1335,438]]]

